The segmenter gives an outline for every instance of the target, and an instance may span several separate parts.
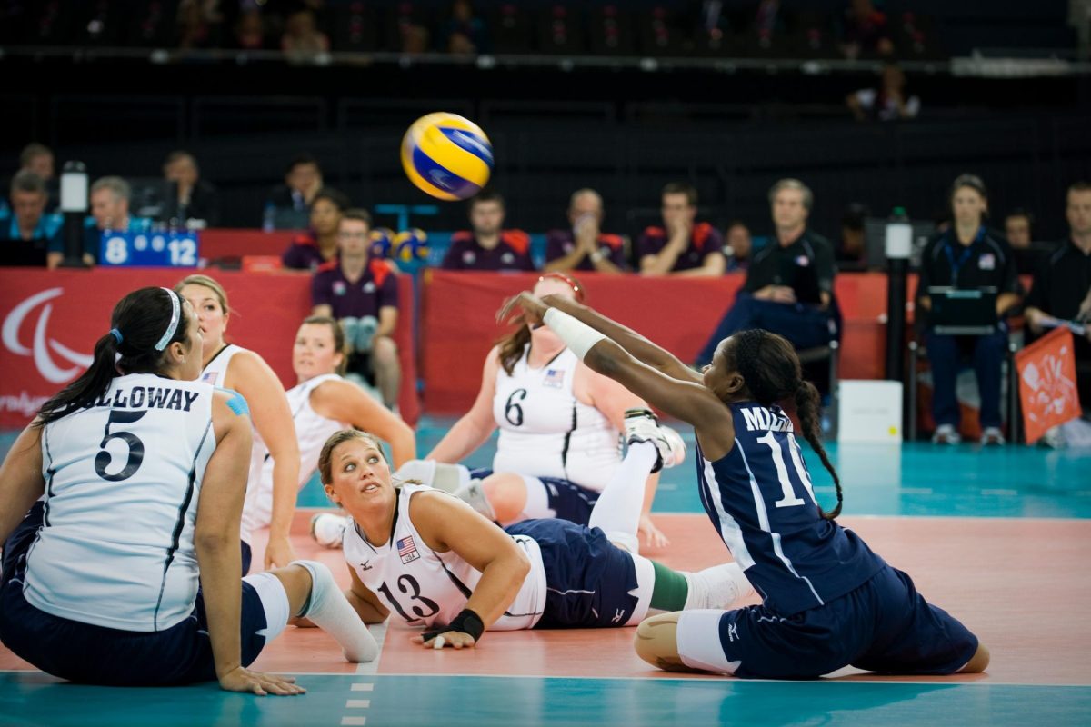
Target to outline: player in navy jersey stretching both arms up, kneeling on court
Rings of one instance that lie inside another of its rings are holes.
[[[648,618],[637,629],[642,658],[669,670],[770,679],[846,665],[906,675],[985,669],[988,651],[973,633],[834,522],[841,485],[819,440],[818,392],[787,340],[739,332],[698,373],[575,301],[520,293],[499,317],[516,308],[527,323],[548,324],[595,371],[693,425],[702,504],[763,596],[758,606]],[[831,512],[814,498],[784,400],[795,402],[804,437],[834,477]]]

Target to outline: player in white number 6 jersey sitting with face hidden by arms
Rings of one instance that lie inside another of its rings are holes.
[[[584,300],[579,282],[561,272],[540,277],[535,292]],[[531,330],[520,325],[489,352],[469,412],[427,461],[411,462],[398,475],[454,490],[501,525],[531,518],[586,525],[595,501],[621,464],[618,445],[625,411],[647,405],[580,363],[548,327]],[[497,428],[491,469],[470,471],[458,464]],[[649,514],[658,482],[658,475],[651,475],[633,496],[643,501],[644,542],[662,547],[668,541]]]

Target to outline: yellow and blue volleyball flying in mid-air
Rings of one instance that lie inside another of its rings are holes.
[[[489,181],[492,144],[481,128],[455,113],[421,117],[401,140],[409,181],[439,199],[468,199]]]

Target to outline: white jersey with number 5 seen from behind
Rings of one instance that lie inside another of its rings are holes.
[[[131,374],[45,426],[31,605],[124,631],[163,631],[190,615],[197,499],[216,449],[212,397],[207,384]]]

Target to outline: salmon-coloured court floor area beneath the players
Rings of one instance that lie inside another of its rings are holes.
[[[293,541],[300,557],[328,565],[347,585],[339,550],[325,550],[307,534],[310,511],[296,514]],[[722,561],[724,548],[711,524],[698,514],[661,514],[657,522],[671,540],[663,550],[645,555],[673,568],[699,569]],[[909,572],[930,602],[955,614],[990,647],[985,675],[913,678],[933,682],[1003,684],[1091,684],[1091,522],[1005,518],[846,517],[888,562]],[[264,543],[255,543],[255,554]],[[256,560],[256,558],[255,558]],[[650,668],[632,647],[632,628],[540,630],[488,633],[477,650],[434,652],[411,644],[411,631],[389,629],[377,665],[379,675],[464,675],[528,677],[630,677],[667,675]],[[356,674],[326,634],[289,627],[266,647],[255,668],[278,673]],[[374,666],[374,668],[372,668]],[[31,669],[0,649],[0,669]],[[897,680],[847,668],[838,679]],[[710,679],[695,676],[685,678]]]

